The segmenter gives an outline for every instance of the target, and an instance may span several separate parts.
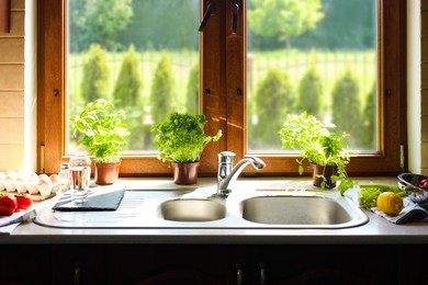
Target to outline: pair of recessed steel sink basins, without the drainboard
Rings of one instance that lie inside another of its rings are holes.
[[[314,196],[256,196],[241,202],[241,217],[251,223],[282,226],[341,227],[359,219],[337,200]],[[225,219],[227,208],[212,200],[173,200],[160,205],[162,217],[174,221]]]

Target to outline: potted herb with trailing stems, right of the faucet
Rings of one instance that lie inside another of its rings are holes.
[[[345,138],[349,136],[330,133],[328,128],[306,112],[301,115],[288,115],[280,130],[283,148],[296,149],[302,159],[297,159],[299,173],[304,171],[303,161],[308,160],[313,167],[314,185],[322,189],[335,187],[340,181],[338,191],[353,186],[345,167],[349,163],[349,151],[343,148]]]

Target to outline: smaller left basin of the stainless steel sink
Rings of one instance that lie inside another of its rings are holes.
[[[176,221],[211,221],[226,217],[226,206],[212,200],[179,198],[164,202],[165,219]]]

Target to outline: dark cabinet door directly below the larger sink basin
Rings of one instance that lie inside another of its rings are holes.
[[[385,246],[259,246],[255,284],[395,284],[395,250]]]

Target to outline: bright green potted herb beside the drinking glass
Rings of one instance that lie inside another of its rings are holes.
[[[70,117],[74,135],[80,133],[79,145],[93,156],[95,183],[113,184],[117,181],[121,151],[131,133],[123,123],[124,111],[115,111],[113,104],[99,99],[86,105],[79,115]]]

